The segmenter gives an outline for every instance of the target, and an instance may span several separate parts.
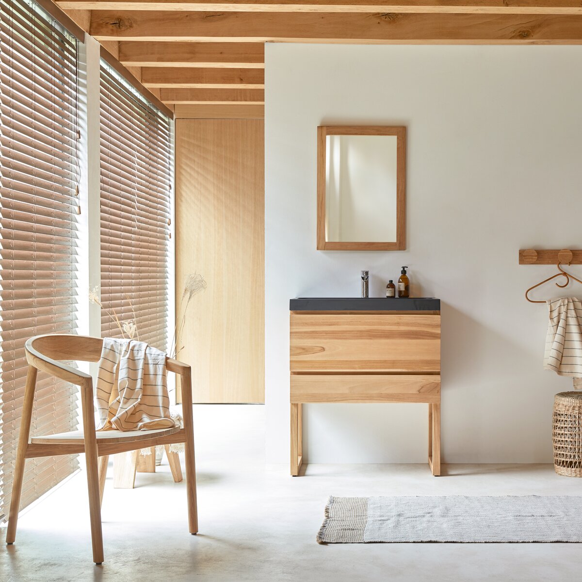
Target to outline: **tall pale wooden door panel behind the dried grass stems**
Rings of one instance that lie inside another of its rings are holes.
[[[194,402],[264,403],[264,122],[176,120],[176,306],[190,303],[179,359]]]

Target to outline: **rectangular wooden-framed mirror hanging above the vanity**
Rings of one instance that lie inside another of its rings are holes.
[[[317,249],[406,249],[406,127],[317,128]]]

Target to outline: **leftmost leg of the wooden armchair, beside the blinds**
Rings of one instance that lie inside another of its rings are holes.
[[[10,512],[8,514],[6,544],[13,544],[16,539],[16,526],[18,524],[20,496],[22,495],[24,465],[26,464],[26,457],[24,455],[26,455],[26,448],[29,445],[30,422],[33,416],[34,387],[36,386],[36,378],[37,369],[29,365],[26,375],[26,386],[24,387],[24,402],[22,404],[20,434],[18,435],[16,466],[12,481],[12,499],[10,500]]]

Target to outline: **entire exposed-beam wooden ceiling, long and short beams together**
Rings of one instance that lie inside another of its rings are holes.
[[[582,44],[582,0],[56,0],[190,115],[258,115],[264,42]]]

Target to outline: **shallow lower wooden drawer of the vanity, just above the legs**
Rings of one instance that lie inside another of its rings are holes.
[[[292,374],[291,403],[441,402],[441,376]]]

